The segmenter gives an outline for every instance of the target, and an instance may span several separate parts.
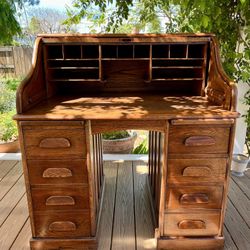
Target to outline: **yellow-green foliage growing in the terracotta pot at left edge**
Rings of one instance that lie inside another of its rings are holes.
[[[15,110],[0,114],[0,141],[12,141],[17,138],[17,126],[12,116]]]

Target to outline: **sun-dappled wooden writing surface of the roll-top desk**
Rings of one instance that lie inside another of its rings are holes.
[[[16,115],[22,120],[165,120],[173,118],[235,118],[237,112],[210,104],[205,97],[58,96]]]

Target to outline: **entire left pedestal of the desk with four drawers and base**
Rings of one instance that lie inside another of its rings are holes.
[[[102,159],[95,160],[95,150],[100,151],[95,147],[101,145],[96,143],[100,137],[91,135],[90,122],[19,121],[18,125],[31,249],[97,249],[103,171]]]

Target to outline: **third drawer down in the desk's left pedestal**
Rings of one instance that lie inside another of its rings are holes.
[[[34,211],[89,209],[88,187],[32,188]]]

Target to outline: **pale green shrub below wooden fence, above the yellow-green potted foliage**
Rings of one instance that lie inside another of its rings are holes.
[[[16,92],[0,82],[0,113],[9,112],[16,107]]]

